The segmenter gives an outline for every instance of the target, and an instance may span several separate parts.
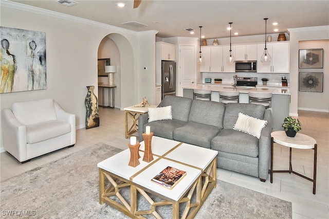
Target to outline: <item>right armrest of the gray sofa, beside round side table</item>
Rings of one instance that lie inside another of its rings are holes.
[[[264,120],[267,120],[267,125],[262,129],[261,137],[259,139],[258,174],[261,179],[267,179],[270,162],[272,132],[272,111],[270,111],[270,109],[265,110]]]

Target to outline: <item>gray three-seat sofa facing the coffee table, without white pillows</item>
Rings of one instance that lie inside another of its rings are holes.
[[[149,125],[155,136],[198,145],[218,151],[217,167],[265,181],[270,162],[272,114],[263,105],[218,103],[166,96],[158,107],[171,106],[172,119],[148,122],[148,114],[139,116],[139,141]],[[233,130],[238,114],[267,120],[258,139]]]

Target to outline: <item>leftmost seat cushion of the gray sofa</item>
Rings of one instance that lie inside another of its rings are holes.
[[[160,120],[160,121],[145,123],[143,128],[145,130],[145,127],[149,125],[151,132],[153,132],[155,136],[174,139],[173,133],[175,129],[184,126],[186,123],[187,122],[176,120],[176,119]]]

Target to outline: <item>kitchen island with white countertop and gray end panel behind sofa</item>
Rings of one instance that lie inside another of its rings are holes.
[[[183,96],[193,99],[193,89],[211,90],[211,100],[220,102],[218,92],[221,90],[234,90],[230,84],[197,84],[186,86],[183,88]],[[236,91],[239,91],[239,102],[249,102],[249,92],[271,93],[271,110],[273,116],[273,130],[282,130],[281,124],[285,117],[289,115],[290,93],[289,87],[246,87],[236,86]]]

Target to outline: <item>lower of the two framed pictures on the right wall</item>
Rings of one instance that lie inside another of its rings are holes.
[[[299,72],[299,91],[323,92],[323,72]]]

